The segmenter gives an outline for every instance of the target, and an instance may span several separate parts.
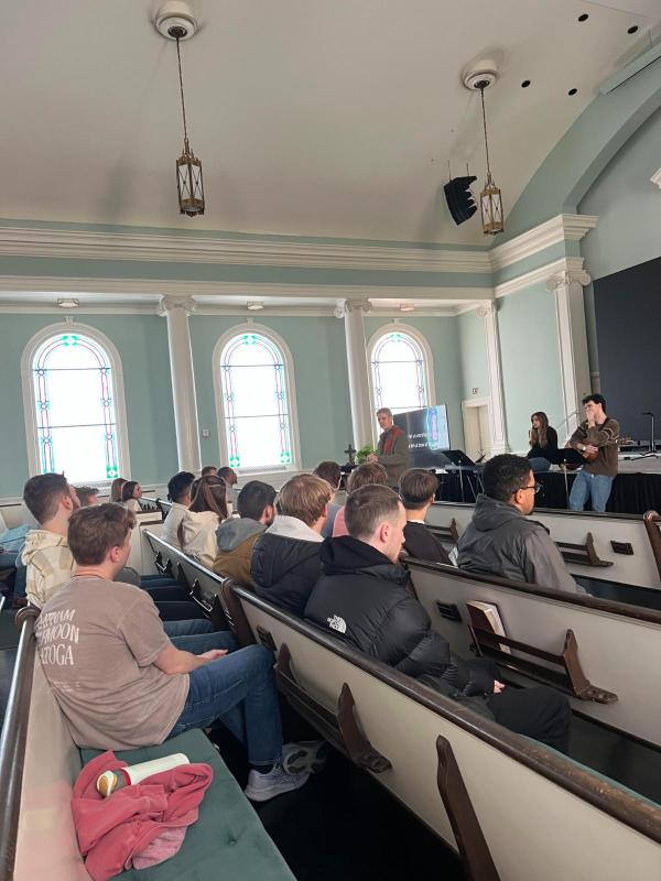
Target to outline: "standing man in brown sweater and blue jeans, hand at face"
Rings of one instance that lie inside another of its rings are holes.
[[[588,394],[583,399],[585,420],[570,437],[568,446],[586,458],[570,494],[570,510],[605,511],[617,475],[619,422],[606,415],[606,399]]]

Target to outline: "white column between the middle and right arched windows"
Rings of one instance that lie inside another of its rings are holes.
[[[362,316],[369,311],[369,301],[347,300],[336,313],[344,314],[347,342],[347,368],[349,373],[349,401],[351,403],[351,427],[354,446],[360,449],[373,442],[371,403],[369,400],[369,376],[367,370],[367,345]]]

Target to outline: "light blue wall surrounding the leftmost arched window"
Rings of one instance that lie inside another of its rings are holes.
[[[58,315],[0,315],[0,497],[20,496],[28,479],[21,356],[37,330]],[[142,483],[177,470],[167,328],[156,315],[82,315],[118,348],[124,374],[131,475]],[[74,325],[75,327],[75,325]]]

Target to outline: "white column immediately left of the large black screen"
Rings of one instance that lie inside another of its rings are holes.
[[[546,281],[546,290],[555,294],[566,434],[572,434],[581,422],[581,399],[592,391],[583,302],[583,289],[590,281],[584,270],[557,272]],[[561,434],[565,434],[564,427]]]

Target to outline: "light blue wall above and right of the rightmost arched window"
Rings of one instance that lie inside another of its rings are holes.
[[[462,421],[462,358],[457,334],[457,318],[409,318],[400,324],[410,325],[426,339],[434,356],[434,384],[436,404],[447,404],[449,440],[453,447],[464,448],[464,423]],[[394,327],[392,319],[367,317],[366,341],[383,326]]]

